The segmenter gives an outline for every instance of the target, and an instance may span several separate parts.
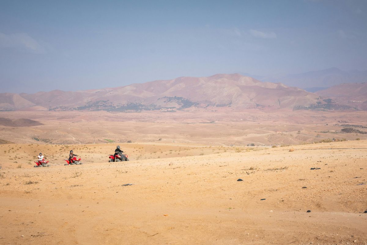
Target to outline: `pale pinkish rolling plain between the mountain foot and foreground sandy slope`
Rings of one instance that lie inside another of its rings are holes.
[[[367,139],[367,134],[336,133],[342,124],[367,125],[364,111],[171,112],[0,112],[24,127],[0,125],[0,141],[28,144],[150,142],[215,146],[294,145],[323,139]],[[27,120],[42,123],[26,126]],[[1,123],[0,123],[1,124]],[[361,131],[367,131],[360,128]]]

